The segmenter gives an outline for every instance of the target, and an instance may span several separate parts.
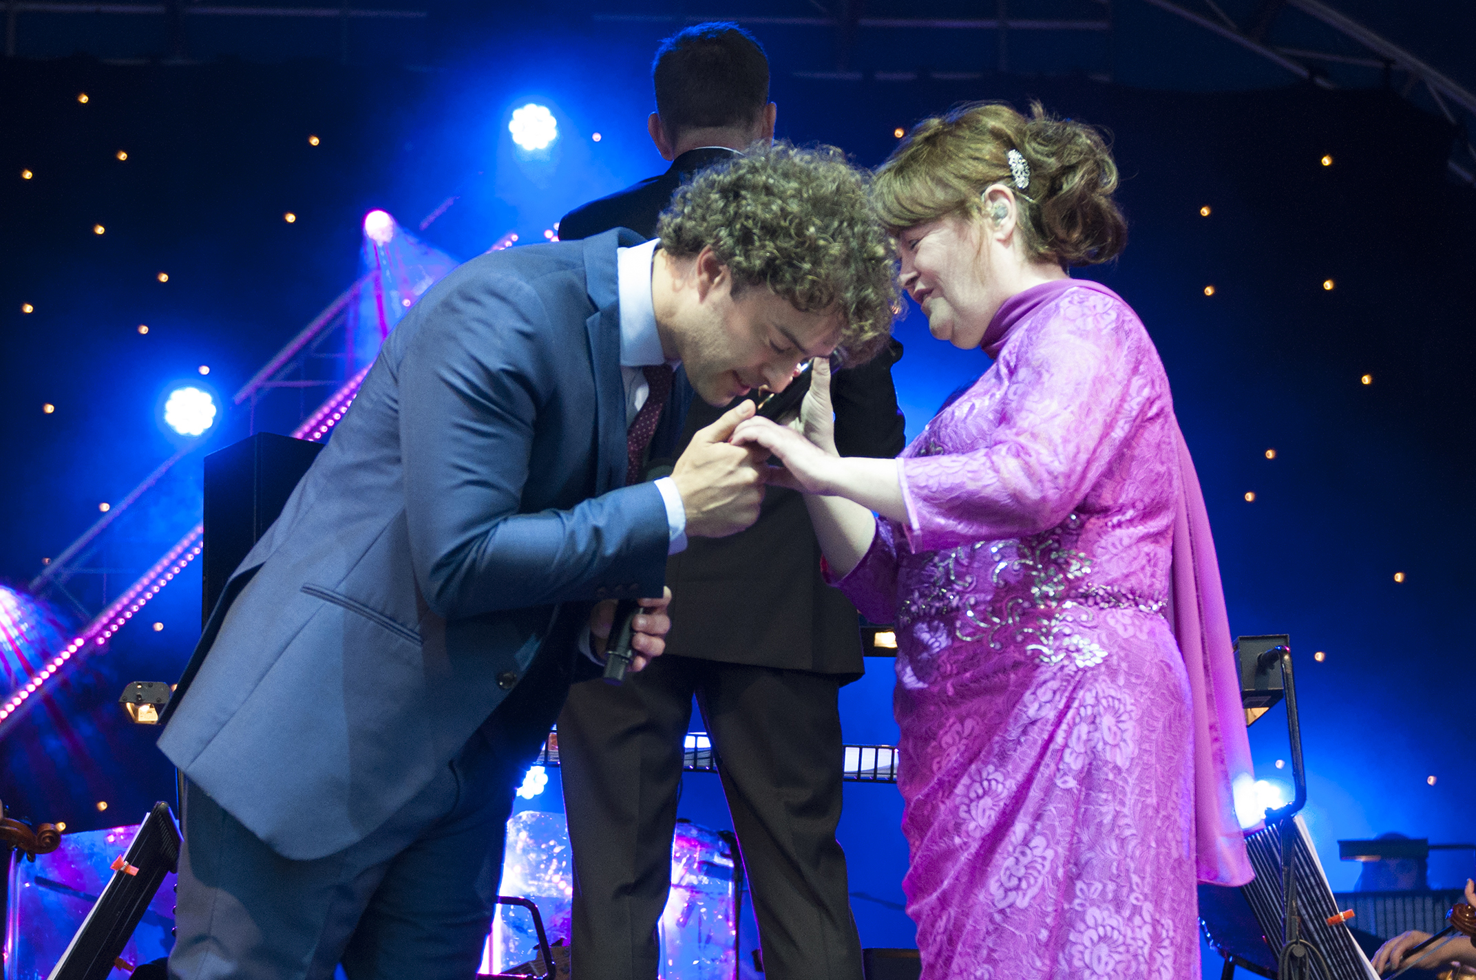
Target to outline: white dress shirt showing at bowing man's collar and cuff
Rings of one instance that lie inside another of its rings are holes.
[[[615,249],[615,283],[620,295],[620,376],[626,384],[626,425],[635,421],[641,406],[651,397],[651,385],[642,368],[682,362],[667,360],[661,353],[661,335],[655,329],[655,306],[651,301],[651,264],[660,239]],[[661,477],[655,481],[666,503],[666,527],[670,533],[667,555],[686,548],[686,506],[676,481]]]

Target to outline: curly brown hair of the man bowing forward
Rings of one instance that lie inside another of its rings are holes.
[[[685,183],[655,233],[676,257],[711,246],[735,291],[762,285],[797,310],[835,310],[837,350],[861,363],[886,344],[899,298],[869,182],[834,146],[756,146]]]

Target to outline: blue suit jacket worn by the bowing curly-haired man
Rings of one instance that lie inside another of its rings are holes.
[[[660,595],[661,494],[623,486],[617,239],[641,241],[481,255],[431,288],[227,584],[159,747],[285,858],[424,788],[556,618]]]

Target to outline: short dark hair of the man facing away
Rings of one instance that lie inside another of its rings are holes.
[[[655,111],[667,136],[748,125],[769,103],[769,59],[753,34],[708,21],[661,41],[651,63]]]

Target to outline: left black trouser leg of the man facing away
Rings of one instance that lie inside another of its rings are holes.
[[[655,980],[697,666],[667,654],[621,685],[576,683],[559,716],[580,980]]]

